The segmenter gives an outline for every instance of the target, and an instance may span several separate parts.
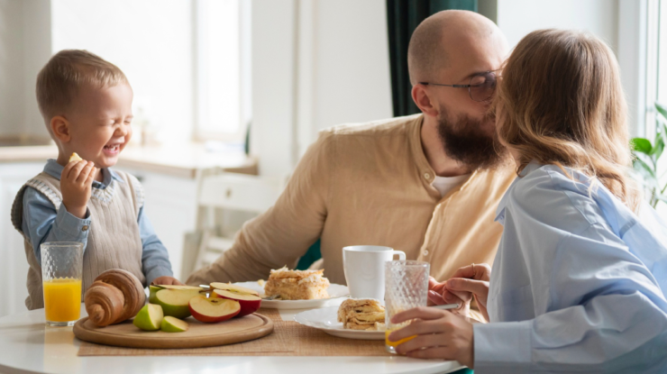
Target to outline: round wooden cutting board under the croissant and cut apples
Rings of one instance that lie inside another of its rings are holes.
[[[252,314],[217,324],[203,324],[192,317],[185,319],[189,328],[183,333],[142,331],[132,320],[122,324],[97,327],[88,317],[74,325],[74,335],[86,342],[128,348],[201,348],[235,342],[247,342],[273,332],[273,322],[264,315]]]

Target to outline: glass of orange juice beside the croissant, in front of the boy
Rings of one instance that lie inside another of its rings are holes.
[[[41,244],[41,280],[47,325],[72,326],[77,322],[81,312],[82,272],[82,243]]]

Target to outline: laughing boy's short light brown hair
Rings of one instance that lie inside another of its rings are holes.
[[[85,85],[96,88],[128,83],[123,71],[87,50],[60,50],[37,75],[37,104],[44,121],[62,114]]]

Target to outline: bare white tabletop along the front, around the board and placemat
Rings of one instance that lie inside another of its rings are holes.
[[[297,311],[281,313],[291,318]],[[81,307],[81,316],[86,316]],[[80,341],[71,327],[47,327],[44,310],[0,318],[0,373],[449,373],[463,367],[456,361],[407,357],[78,357]]]

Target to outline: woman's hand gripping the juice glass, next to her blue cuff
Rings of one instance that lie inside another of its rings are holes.
[[[391,322],[400,324],[412,319],[416,321],[388,336],[391,342],[415,336],[397,345],[397,353],[418,359],[457,360],[472,369],[474,345],[470,322],[449,311],[426,306],[394,315]]]

